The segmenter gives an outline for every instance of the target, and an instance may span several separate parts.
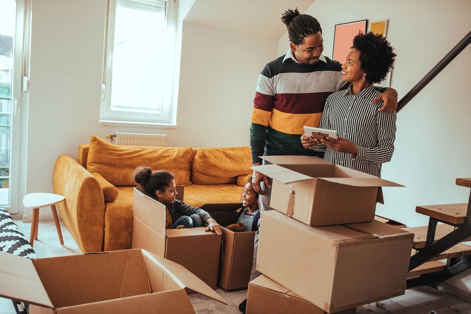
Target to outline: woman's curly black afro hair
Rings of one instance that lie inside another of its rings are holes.
[[[362,70],[370,83],[381,82],[386,78],[390,68],[393,68],[396,54],[383,35],[372,32],[359,34],[353,39],[352,48],[360,52]]]

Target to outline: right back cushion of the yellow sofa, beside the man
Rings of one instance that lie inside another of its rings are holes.
[[[235,183],[237,176],[252,170],[250,147],[202,148],[191,168],[191,182],[197,184]]]

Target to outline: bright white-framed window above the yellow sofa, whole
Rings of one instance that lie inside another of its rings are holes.
[[[174,124],[173,0],[111,0],[100,121]]]

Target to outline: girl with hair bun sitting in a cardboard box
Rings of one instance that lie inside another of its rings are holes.
[[[221,235],[221,227],[208,212],[203,209],[190,206],[175,199],[178,195],[175,189],[174,176],[164,170],[152,171],[149,167],[137,167],[134,171],[134,181],[138,189],[145,192],[166,207],[166,229],[182,229],[203,227],[208,224],[206,231],[214,231]],[[177,219],[177,213],[180,218]]]

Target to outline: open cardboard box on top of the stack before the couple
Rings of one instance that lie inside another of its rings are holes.
[[[270,207],[309,226],[371,221],[381,186],[402,186],[318,157],[262,158],[251,168],[273,179]]]

